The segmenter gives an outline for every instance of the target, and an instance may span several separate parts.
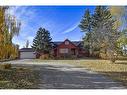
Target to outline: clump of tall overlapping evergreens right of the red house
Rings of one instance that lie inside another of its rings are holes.
[[[109,53],[108,57],[112,58],[113,61],[119,37],[115,22],[116,20],[112,17],[108,7],[97,6],[93,15],[90,15],[90,12],[86,10],[79,25],[81,30],[86,32],[84,39],[88,41],[89,47],[99,50],[99,54],[101,52]]]

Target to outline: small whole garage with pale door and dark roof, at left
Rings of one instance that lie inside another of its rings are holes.
[[[34,59],[36,58],[36,54],[32,48],[22,48],[19,50],[19,58],[20,59]]]

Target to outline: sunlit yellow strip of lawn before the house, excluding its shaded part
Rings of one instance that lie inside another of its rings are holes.
[[[32,62],[51,62],[51,63],[69,63],[80,65],[98,72],[127,72],[127,61],[116,61],[111,63],[108,60],[86,59],[86,60],[40,60],[36,59]]]

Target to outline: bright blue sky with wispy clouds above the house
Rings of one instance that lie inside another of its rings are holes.
[[[81,40],[84,33],[78,27],[85,10],[94,10],[94,6],[15,6],[10,9],[21,21],[20,34],[13,42],[20,48],[26,40],[32,44],[39,27],[50,31],[53,41]]]

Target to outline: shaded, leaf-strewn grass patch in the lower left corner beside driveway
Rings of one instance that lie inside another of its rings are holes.
[[[0,64],[0,89],[36,88],[36,72],[27,68],[12,68],[11,64]]]

